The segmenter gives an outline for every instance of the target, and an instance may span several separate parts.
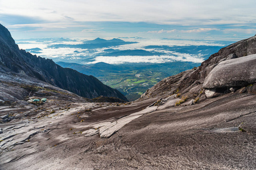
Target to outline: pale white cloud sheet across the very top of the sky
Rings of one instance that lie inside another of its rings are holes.
[[[32,16],[58,22],[151,22],[204,25],[255,23],[256,1],[154,0],[9,0],[0,1],[0,14]]]

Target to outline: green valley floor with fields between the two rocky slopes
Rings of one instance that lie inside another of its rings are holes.
[[[138,99],[148,88],[167,76],[199,66],[199,63],[179,61],[123,65],[110,65],[104,62],[93,65],[57,63],[63,67],[69,67],[81,73],[96,76],[102,83],[122,92],[129,101]]]

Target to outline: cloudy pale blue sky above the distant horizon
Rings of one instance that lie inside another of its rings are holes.
[[[14,39],[241,40],[256,34],[256,1],[0,0],[0,23]]]

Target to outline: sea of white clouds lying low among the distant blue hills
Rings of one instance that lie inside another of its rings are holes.
[[[137,41],[137,44],[127,44],[120,46],[110,47],[115,50],[133,50],[133,49],[143,49],[150,52],[160,52],[165,53],[160,56],[102,56],[105,54],[104,50],[109,48],[97,48],[97,49],[80,49],[80,48],[49,48],[53,44],[82,44],[84,40],[77,41],[31,41],[31,40],[16,40],[16,44],[19,45],[20,49],[32,49],[40,48],[39,53],[33,53],[40,57],[50,58],[53,61],[63,61],[63,62],[76,62],[82,63],[84,65],[93,64],[97,62],[105,62],[109,64],[122,64],[122,63],[166,63],[174,61],[184,61],[184,62],[195,62],[201,63],[204,61],[200,51],[198,54],[189,53],[177,53],[171,50],[164,49],[145,49],[144,46],[148,45],[167,45],[167,46],[188,46],[188,45],[208,45],[208,46],[223,46],[223,44],[213,42],[213,41],[193,41],[193,40],[149,40],[149,39],[125,39],[125,41]],[[19,43],[20,42],[20,43]],[[28,50],[28,52],[30,52]]]

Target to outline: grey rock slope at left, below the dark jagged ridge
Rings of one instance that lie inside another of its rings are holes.
[[[47,97],[47,99],[60,99],[69,102],[90,101],[90,99],[28,75],[4,73],[0,70],[0,77],[0,105],[10,105],[14,101],[28,100],[28,97]]]

